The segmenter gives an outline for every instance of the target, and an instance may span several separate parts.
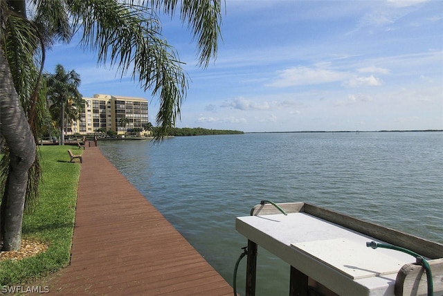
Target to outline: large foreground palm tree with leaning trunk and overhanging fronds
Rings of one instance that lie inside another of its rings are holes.
[[[33,9],[32,21],[26,4]],[[0,1],[1,136],[10,151],[10,163],[1,170],[6,185],[1,208],[8,212],[0,217],[3,250],[20,248],[26,189],[28,194],[37,192],[29,186],[28,170],[36,159],[35,114],[42,102],[37,99],[45,98],[44,83],[39,84],[44,46],[69,42],[78,32],[80,46],[95,51],[99,63],[109,62],[122,76],[131,71],[132,79],[160,102],[157,137],[163,138],[174,127],[188,89],[178,55],[161,35],[158,17],[159,13],[172,17],[177,9],[197,40],[199,65],[206,68],[217,53],[220,0]]]

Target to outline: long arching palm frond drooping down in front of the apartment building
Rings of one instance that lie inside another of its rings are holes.
[[[156,15],[150,8],[117,1],[72,3],[74,23],[84,28],[81,44],[96,50],[99,62],[116,66],[122,77],[132,71],[132,80],[159,95],[157,123],[167,131],[179,116],[188,81],[177,53],[161,36]]]

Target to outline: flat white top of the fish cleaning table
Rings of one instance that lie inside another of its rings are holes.
[[[403,252],[366,247],[382,242],[304,212],[237,217],[244,237],[339,295],[394,295]]]

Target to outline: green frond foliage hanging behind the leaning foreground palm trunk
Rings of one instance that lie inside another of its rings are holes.
[[[5,8],[5,7],[3,7]],[[2,9],[3,9],[2,8]],[[32,22],[23,15],[15,12],[3,10],[4,17],[1,47],[4,50],[15,90],[19,95],[21,107],[28,116],[30,129],[37,139],[39,129],[44,120],[44,86],[40,86],[41,71],[43,68],[44,48],[40,42],[40,35]],[[40,51],[39,51],[40,50]],[[1,180],[7,182],[10,172],[10,157],[8,149],[3,156],[0,165]],[[27,204],[37,200],[38,190],[36,189],[42,174],[39,167],[39,158],[35,157],[33,167],[28,174],[28,187],[26,190]]]

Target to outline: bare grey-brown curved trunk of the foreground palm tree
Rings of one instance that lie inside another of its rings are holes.
[[[35,139],[15,91],[8,61],[0,46],[0,132],[10,151],[8,181],[1,201],[2,250],[19,250],[28,169],[35,161]]]

